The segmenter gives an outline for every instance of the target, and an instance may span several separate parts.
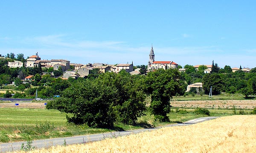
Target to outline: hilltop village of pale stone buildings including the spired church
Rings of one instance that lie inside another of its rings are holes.
[[[151,45],[151,50],[149,53],[149,59],[148,59],[148,65],[145,67],[147,71],[154,71],[159,68],[163,69],[170,69],[170,68],[178,68],[180,72],[185,72],[186,68],[182,68],[180,65],[178,65],[174,61],[155,61],[155,54],[154,54],[154,49],[153,46]],[[2,57],[3,58],[3,57]],[[86,78],[88,74],[90,74],[90,71],[93,69],[96,69],[99,71],[99,73],[105,73],[105,72],[115,72],[119,73],[122,69],[124,69],[126,72],[130,73],[131,75],[137,75],[141,74],[141,68],[137,68],[136,66],[133,65],[133,62],[131,64],[129,63],[120,63],[120,64],[105,64],[105,63],[87,63],[87,64],[77,64],[77,63],[72,63],[67,59],[51,59],[51,60],[45,60],[41,59],[39,57],[38,53],[35,55],[32,55],[28,57],[26,60],[24,60],[24,63],[21,61],[13,61],[13,62],[8,62],[8,66],[10,68],[20,68],[22,66],[24,67],[41,67],[41,68],[47,68],[47,69],[53,69],[54,70],[61,70],[63,73],[61,77],[63,79],[68,79],[69,77],[72,77],[74,79],[77,79],[78,77],[83,77]],[[194,68],[198,70],[198,68],[201,65],[194,65]],[[211,73],[212,71],[212,65],[204,65],[204,73]],[[186,66],[185,66],[186,67]],[[232,68],[232,72],[242,70],[244,72],[250,72],[250,68]],[[52,71],[52,72],[53,72]],[[49,72],[49,71],[48,71]],[[47,73],[43,73],[47,74]],[[144,74],[144,73],[143,73]],[[53,75],[53,73],[52,73]],[[26,78],[23,79],[30,79],[33,76],[27,76]]]

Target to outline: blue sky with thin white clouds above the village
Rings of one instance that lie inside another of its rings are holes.
[[[2,0],[0,54],[256,67],[253,0]]]

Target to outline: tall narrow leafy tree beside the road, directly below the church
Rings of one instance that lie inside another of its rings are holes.
[[[170,99],[182,92],[180,73],[177,69],[158,69],[148,73],[143,84],[145,91],[151,95],[149,110],[155,120],[169,122]]]

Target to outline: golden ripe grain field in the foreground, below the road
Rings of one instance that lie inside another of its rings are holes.
[[[164,127],[30,153],[256,153],[255,121],[256,115],[225,116],[195,125]]]

